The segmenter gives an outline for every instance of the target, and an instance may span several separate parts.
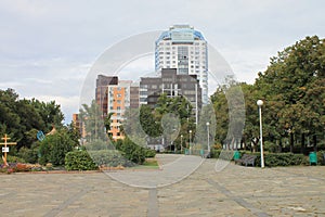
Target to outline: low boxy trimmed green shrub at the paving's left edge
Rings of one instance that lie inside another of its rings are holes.
[[[65,155],[65,168],[67,170],[93,170],[98,166],[87,151],[75,151]]]

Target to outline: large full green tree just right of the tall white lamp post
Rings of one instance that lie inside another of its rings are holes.
[[[259,73],[255,87],[265,101],[264,123],[276,120],[270,125],[276,132],[268,139],[275,137],[281,143],[282,137],[289,137],[290,150],[300,141],[303,151],[306,136],[315,146],[324,136],[324,39],[307,37],[278,52]]]

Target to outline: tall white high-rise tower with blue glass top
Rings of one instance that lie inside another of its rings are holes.
[[[200,31],[190,25],[173,25],[156,40],[155,68],[177,68],[179,75],[196,75],[208,103],[208,46]]]

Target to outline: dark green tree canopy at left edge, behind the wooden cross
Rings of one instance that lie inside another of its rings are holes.
[[[51,102],[20,99],[13,89],[0,90],[0,135],[9,133],[17,148],[30,148],[39,130],[44,133],[53,126],[62,127],[61,106]]]

